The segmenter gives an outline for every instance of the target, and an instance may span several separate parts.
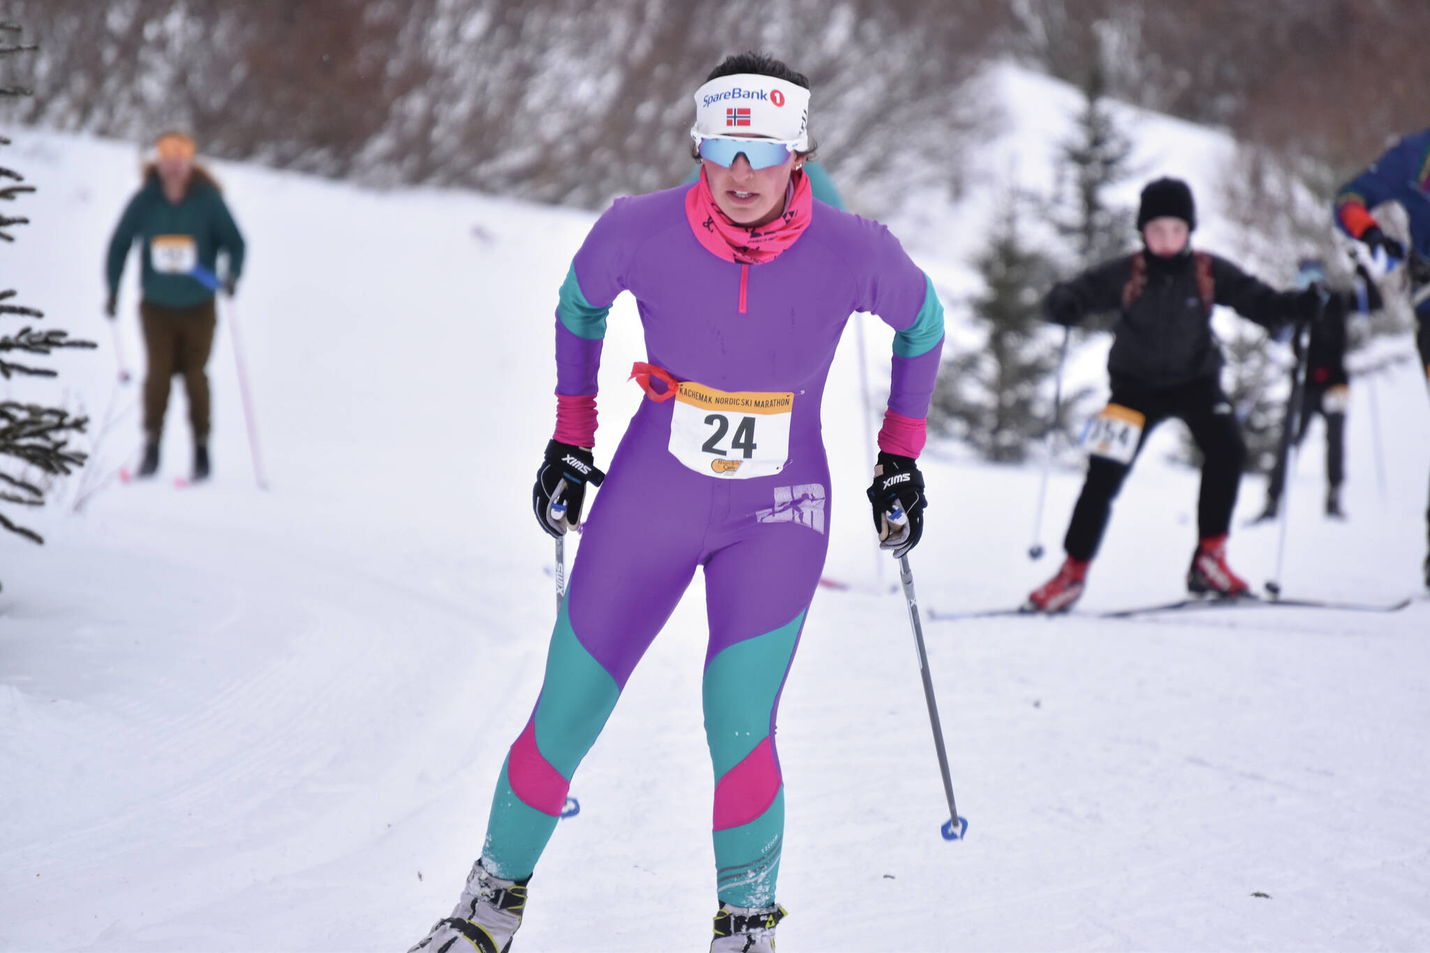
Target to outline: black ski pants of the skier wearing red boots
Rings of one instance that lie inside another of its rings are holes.
[[[1164,389],[1113,383],[1111,403],[1145,414],[1137,453],[1143,451],[1153,429],[1168,417],[1180,417],[1191,430],[1191,439],[1201,450],[1201,496],[1197,502],[1197,529],[1201,539],[1224,536],[1231,526],[1231,510],[1237,504],[1241,484],[1241,464],[1246,443],[1241,427],[1231,413],[1231,401],[1221,393],[1214,377]],[[1133,460],[1137,460],[1134,454]],[[1072,509],[1072,523],[1062,540],[1062,549],[1077,560],[1091,560],[1103,543],[1103,532],[1113,512],[1113,500],[1123,489],[1131,463],[1123,464],[1107,457],[1088,457],[1087,482]]]

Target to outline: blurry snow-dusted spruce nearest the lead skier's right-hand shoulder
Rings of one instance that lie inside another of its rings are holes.
[[[1052,413],[1048,379],[1058,346],[1042,317],[1052,266],[1024,243],[1012,203],[977,266],[984,291],[971,304],[984,341],[944,363],[930,424],[935,434],[954,436],[987,460],[1021,463],[1048,431]],[[1071,403],[1064,401],[1054,429],[1064,429]]]

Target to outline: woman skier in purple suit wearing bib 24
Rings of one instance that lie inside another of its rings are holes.
[[[922,530],[914,460],[944,339],[932,283],[898,240],[811,197],[808,106],[808,80],[784,63],[726,59],[695,93],[699,181],[618,200],[566,273],[556,433],[532,493],[536,520],[568,533],[586,484],[603,489],[536,707],[496,783],[482,856],[452,916],[413,950],[509,947],[571,777],[696,567],[715,769],[711,950],[774,949],[785,916],[775,903],[784,833],[775,709],[828,546],[825,377],[851,311],[895,329],[868,496],[881,546],[902,554]],[[635,296],[645,326],[648,361],[633,376],[648,400],[605,476],[591,453],[596,367],[621,291]]]

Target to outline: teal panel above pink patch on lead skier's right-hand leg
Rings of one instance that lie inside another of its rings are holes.
[[[705,667],[705,740],[716,782],[769,736],[804,617],[801,612],[774,632],[736,642]]]

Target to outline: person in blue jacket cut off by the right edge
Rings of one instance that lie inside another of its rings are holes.
[[[1399,201],[1410,219],[1409,249],[1387,236],[1370,213],[1386,201]],[[1380,249],[1406,263],[1416,309],[1416,344],[1430,383],[1430,129],[1401,139],[1341,186],[1336,193],[1336,224],[1371,250]],[[1426,526],[1430,529],[1430,509],[1426,510]],[[1426,554],[1424,574],[1430,589],[1430,553]]]

